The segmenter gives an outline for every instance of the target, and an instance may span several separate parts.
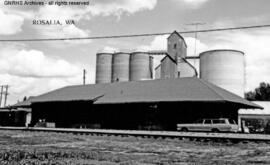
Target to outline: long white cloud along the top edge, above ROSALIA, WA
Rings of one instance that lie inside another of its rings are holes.
[[[44,6],[35,14],[38,18],[58,20],[90,19],[91,16],[121,16],[143,10],[153,10],[157,0],[99,0],[88,7]]]

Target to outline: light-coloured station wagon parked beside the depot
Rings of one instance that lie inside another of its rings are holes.
[[[200,119],[192,124],[177,124],[178,131],[238,132],[238,125],[232,119]]]

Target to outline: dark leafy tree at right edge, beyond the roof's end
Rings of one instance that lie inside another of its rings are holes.
[[[245,98],[250,101],[270,101],[270,84],[260,83],[254,91],[245,93]]]

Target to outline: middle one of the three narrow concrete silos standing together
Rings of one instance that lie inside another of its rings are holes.
[[[112,59],[112,82],[129,81],[130,54],[118,52]]]

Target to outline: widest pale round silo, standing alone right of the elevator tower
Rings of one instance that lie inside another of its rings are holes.
[[[237,50],[211,50],[200,54],[200,77],[244,97],[244,53]]]

